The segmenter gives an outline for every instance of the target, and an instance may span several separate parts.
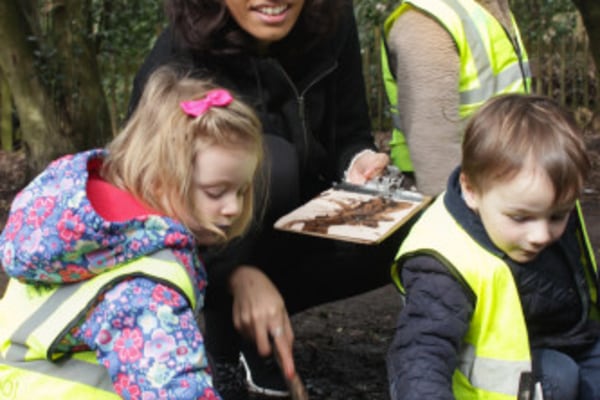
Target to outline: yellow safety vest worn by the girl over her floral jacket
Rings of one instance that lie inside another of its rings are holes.
[[[36,288],[11,279],[0,301],[0,398],[120,399],[94,351],[65,354],[56,346],[102,292],[134,276],[163,282],[196,306],[194,283],[169,250],[74,284]]]

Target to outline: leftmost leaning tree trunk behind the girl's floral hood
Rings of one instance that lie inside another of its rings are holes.
[[[28,26],[19,0],[0,1],[0,69],[19,115],[30,167],[37,172],[57,155],[72,152],[74,147],[60,135],[52,98],[34,68]]]

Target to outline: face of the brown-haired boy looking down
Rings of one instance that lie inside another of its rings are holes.
[[[475,190],[461,174],[469,208],[481,217],[494,244],[519,263],[533,260],[564,232],[574,202],[553,204],[554,188],[532,162],[513,178]]]

